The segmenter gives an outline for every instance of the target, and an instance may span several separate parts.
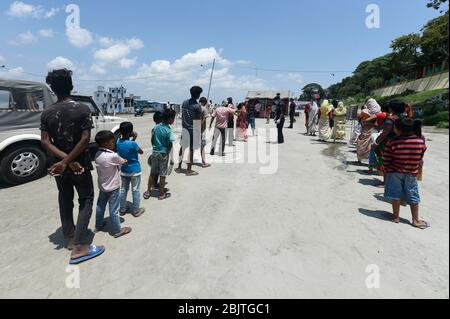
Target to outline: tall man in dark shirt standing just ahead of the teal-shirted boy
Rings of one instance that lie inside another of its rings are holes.
[[[197,176],[198,172],[192,170],[192,164],[194,163],[194,122],[196,121],[200,125],[200,120],[202,117],[202,107],[198,103],[198,99],[202,94],[203,89],[199,86],[194,86],[191,88],[191,98],[183,102],[181,106],[182,113],[182,122],[183,122],[183,133],[181,137],[181,148],[180,148],[180,159],[178,168],[176,170],[177,173],[181,172],[181,166],[183,164],[184,152],[187,148],[189,148],[189,163],[187,164],[187,172],[186,176]],[[200,142],[200,127],[199,134],[197,137],[198,141],[195,141],[196,144]]]

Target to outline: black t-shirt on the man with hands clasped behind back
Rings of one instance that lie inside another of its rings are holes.
[[[47,132],[53,145],[67,155],[80,142],[83,131],[90,131],[92,127],[89,107],[75,101],[53,104],[41,115],[40,130]],[[53,159],[54,163],[58,161],[59,159]],[[75,161],[88,170],[93,169],[88,147]]]

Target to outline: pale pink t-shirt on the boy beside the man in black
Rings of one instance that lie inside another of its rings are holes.
[[[95,155],[98,174],[98,187],[102,192],[110,193],[120,188],[120,166],[126,161],[119,154],[100,148]]]

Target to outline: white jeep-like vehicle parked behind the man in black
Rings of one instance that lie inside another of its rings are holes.
[[[90,97],[74,96],[93,117],[91,145],[100,130],[119,129],[124,119],[104,116]],[[0,79],[0,179],[10,185],[45,175],[49,156],[41,146],[40,118],[56,96],[43,83]]]

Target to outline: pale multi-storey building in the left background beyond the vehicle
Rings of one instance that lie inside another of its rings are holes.
[[[123,86],[109,88],[108,91],[104,86],[99,86],[93,96],[95,103],[105,114],[132,113],[135,98],[133,94],[127,96],[127,89]]]

